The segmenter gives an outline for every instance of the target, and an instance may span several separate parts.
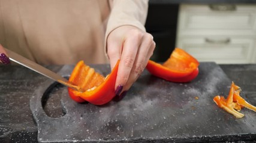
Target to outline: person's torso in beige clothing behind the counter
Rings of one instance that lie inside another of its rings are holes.
[[[106,63],[109,2],[0,0],[0,43],[40,64]]]

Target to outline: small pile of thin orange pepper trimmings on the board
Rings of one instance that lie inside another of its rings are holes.
[[[225,111],[233,114],[237,118],[242,118],[245,116],[244,114],[239,113],[243,107],[249,108],[250,110],[256,112],[256,107],[254,105],[249,104],[242,97],[240,97],[240,91],[240,87],[232,82],[227,100],[224,97],[217,95],[213,98],[213,101],[218,105],[218,107],[223,108]]]

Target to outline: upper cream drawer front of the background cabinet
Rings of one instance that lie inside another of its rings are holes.
[[[181,5],[178,35],[255,35],[256,5],[233,6],[214,10],[211,5]]]

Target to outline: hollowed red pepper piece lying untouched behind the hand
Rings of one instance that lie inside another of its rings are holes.
[[[149,60],[146,69],[154,76],[170,82],[190,82],[198,75],[199,62],[180,48],[175,48],[164,64]]]

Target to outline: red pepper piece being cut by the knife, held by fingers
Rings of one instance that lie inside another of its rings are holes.
[[[105,78],[95,72],[83,61],[79,61],[70,75],[69,82],[79,86],[83,91],[68,88],[70,97],[77,102],[88,101],[95,105],[103,105],[115,97],[115,83],[118,74],[119,60],[111,73]]]

